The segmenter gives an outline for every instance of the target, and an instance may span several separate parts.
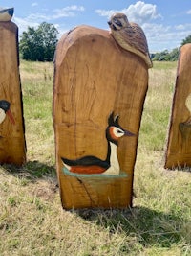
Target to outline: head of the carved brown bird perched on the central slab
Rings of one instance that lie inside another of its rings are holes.
[[[129,21],[124,13],[117,12],[111,16],[108,25],[112,30],[116,31],[127,28],[129,26]]]

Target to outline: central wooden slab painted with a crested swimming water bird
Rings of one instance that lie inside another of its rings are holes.
[[[53,124],[64,208],[132,204],[148,66],[108,31],[79,26],[58,42]]]

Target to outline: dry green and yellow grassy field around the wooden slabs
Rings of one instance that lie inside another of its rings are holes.
[[[54,168],[53,63],[21,61],[28,162],[0,167],[0,255],[191,255],[191,173],[163,155],[176,62],[150,70],[133,209],[65,211]]]

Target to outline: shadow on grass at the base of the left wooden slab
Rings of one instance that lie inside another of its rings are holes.
[[[15,175],[18,178],[27,178],[32,182],[38,178],[56,178],[55,168],[39,161],[29,161],[21,167],[12,164],[4,164],[2,167],[10,175]]]

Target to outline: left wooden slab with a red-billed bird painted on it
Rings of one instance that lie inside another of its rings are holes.
[[[26,160],[18,58],[18,28],[11,21],[0,22],[1,164],[12,163],[22,165]],[[9,109],[5,108],[7,103],[9,104]]]

